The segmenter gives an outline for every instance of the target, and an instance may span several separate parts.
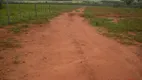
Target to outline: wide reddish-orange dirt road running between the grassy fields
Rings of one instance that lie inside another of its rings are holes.
[[[11,50],[20,61],[7,80],[142,80],[140,61],[132,51],[98,34],[80,12],[64,13],[20,37]],[[9,59],[9,63],[12,61]]]

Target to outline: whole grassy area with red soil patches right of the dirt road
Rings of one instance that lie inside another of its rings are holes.
[[[142,43],[142,9],[88,7],[84,17],[98,28],[105,28],[103,34],[119,39],[124,44]],[[113,19],[119,19],[117,23]],[[103,32],[103,31],[100,31]],[[131,34],[130,34],[131,33]]]

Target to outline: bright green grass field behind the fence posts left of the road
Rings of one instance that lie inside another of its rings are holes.
[[[34,4],[10,4],[10,23],[15,24],[19,22],[30,23],[36,20],[49,20],[61,12],[69,11],[76,8],[71,5],[49,5],[49,4],[37,4],[37,16],[35,14]],[[7,10],[6,6],[0,9],[0,25],[7,25]]]

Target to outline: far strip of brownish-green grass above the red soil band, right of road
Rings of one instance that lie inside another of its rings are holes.
[[[93,12],[94,15],[103,16],[107,14],[118,14],[121,17],[142,17],[142,9],[139,8],[113,8],[113,7],[89,7],[87,11]]]

